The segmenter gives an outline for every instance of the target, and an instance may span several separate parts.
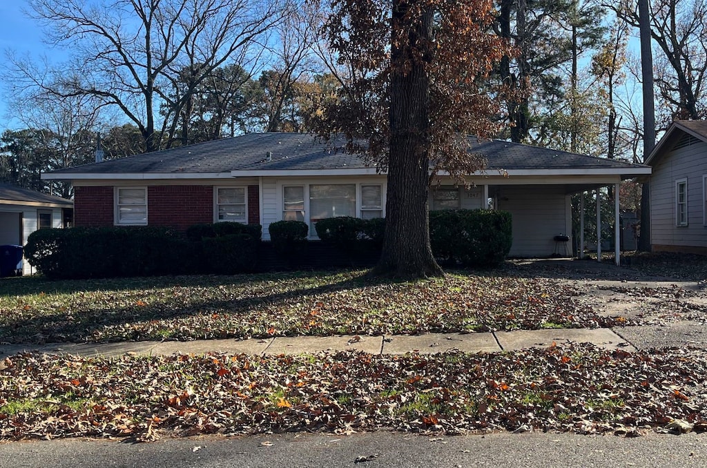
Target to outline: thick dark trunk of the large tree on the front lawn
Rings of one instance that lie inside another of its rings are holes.
[[[407,6],[393,0],[392,21],[404,21]],[[373,274],[398,278],[440,276],[430,247],[428,221],[430,83],[421,48],[432,36],[432,11],[409,29],[408,40],[392,46],[390,149],[385,238]],[[422,57],[422,58],[421,58]],[[404,64],[409,62],[409,68]]]

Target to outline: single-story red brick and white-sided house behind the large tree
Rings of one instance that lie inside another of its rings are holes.
[[[513,214],[512,257],[547,257],[571,236],[571,195],[650,174],[650,168],[493,140],[472,150],[488,160],[471,188],[436,175],[430,209],[503,209]],[[362,158],[307,134],[246,134],[42,175],[74,184],[76,226],[195,223],[332,216],[385,217],[386,176]],[[315,231],[310,228],[310,235]],[[571,239],[570,243],[571,244]]]

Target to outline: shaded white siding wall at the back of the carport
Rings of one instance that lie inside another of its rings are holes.
[[[572,235],[568,227],[572,222],[571,204],[562,187],[501,187],[498,209],[513,216],[510,257],[547,257],[555,252],[556,235]],[[568,250],[571,245],[570,238]],[[564,247],[559,247],[564,254]]]

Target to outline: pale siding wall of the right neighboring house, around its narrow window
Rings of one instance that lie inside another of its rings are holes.
[[[650,176],[650,241],[653,245],[707,247],[702,176],[707,175],[707,143],[670,151]],[[687,180],[687,222],[675,226],[675,182]]]

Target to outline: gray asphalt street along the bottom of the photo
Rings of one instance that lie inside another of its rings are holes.
[[[0,445],[0,468],[706,467],[707,435],[285,434],[153,443],[35,440]]]

